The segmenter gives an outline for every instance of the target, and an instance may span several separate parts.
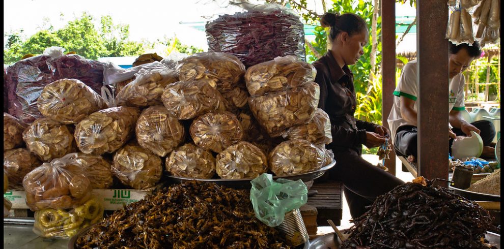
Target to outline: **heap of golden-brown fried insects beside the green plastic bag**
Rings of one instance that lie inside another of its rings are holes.
[[[210,183],[161,190],[108,216],[76,248],[290,248],[249,194]]]

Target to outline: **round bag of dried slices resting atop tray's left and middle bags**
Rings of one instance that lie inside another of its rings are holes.
[[[190,134],[196,145],[217,153],[243,138],[238,118],[227,111],[208,112],[194,119]]]

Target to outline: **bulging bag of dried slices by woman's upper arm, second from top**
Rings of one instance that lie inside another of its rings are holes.
[[[264,96],[250,97],[250,110],[271,137],[281,136],[287,128],[306,124],[317,109],[320,88],[311,82]]]

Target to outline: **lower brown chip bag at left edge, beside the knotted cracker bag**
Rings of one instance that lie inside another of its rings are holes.
[[[23,190],[23,178],[42,162],[25,148],[4,151],[4,173],[9,178],[10,190]]]

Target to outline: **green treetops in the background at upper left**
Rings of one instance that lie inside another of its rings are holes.
[[[50,46],[63,47],[66,52],[75,51],[89,59],[134,56],[145,51],[142,43],[128,41],[129,25],[114,24],[110,16],[101,17],[99,29],[95,27],[93,16],[86,12],[59,30],[53,30],[47,20],[44,22],[44,29],[25,41],[22,30],[4,35],[7,37],[5,64],[12,64],[27,53],[41,54]]]

